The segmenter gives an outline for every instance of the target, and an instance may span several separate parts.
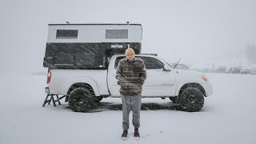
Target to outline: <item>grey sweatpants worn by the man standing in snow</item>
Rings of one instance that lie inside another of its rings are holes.
[[[129,114],[130,110],[133,112],[133,125],[134,128],[140,126],[140,110],[142,107],[142,94],[138,95],[123,95],[122,99],[122,129],[129,129]]]

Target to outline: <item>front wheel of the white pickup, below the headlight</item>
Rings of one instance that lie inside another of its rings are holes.
[[[202,109],[204,96],[197,87],[188,86],[179,95],[180,108],[184,111],[194,112]]]

